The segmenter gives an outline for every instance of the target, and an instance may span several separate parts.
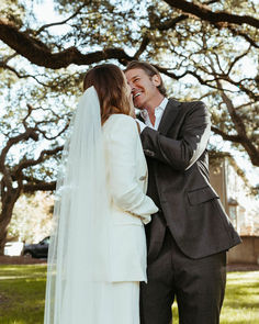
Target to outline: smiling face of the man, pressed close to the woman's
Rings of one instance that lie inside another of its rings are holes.
[[[160,94],[157,88],[160,85],[160,77],[158,75],[150,77],[142,68],[130,69],[125,75],[132,89],[134,105],[147,109]]]

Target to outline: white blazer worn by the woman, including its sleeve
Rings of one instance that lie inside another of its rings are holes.
[[[133,118],[113,114],[103,125],[110,191],[111,281],[146,281],[144,224],[158,211],[146,195],[147,165]]]

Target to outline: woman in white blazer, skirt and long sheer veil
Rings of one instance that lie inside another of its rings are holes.
[[[138,324],[144,224],[157,206],[131,89],[112,64],[90,69],[64,148],[44,324]]]

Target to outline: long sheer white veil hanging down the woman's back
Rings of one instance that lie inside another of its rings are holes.
[[[44,324],[80,323],[94,313],[91,295],[101,293],[100,281],[109,280],[109,197],[93,87],[80,98],[70,132],[56,189]]]

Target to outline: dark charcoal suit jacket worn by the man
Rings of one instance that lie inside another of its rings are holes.
[[[168,227],[183,254],[202,258],[240,243],[209,180],[210,114],[203,102],[169,99],[158,131],[146,127],[147,194],[160,208],[146,227],[156,257]]]

